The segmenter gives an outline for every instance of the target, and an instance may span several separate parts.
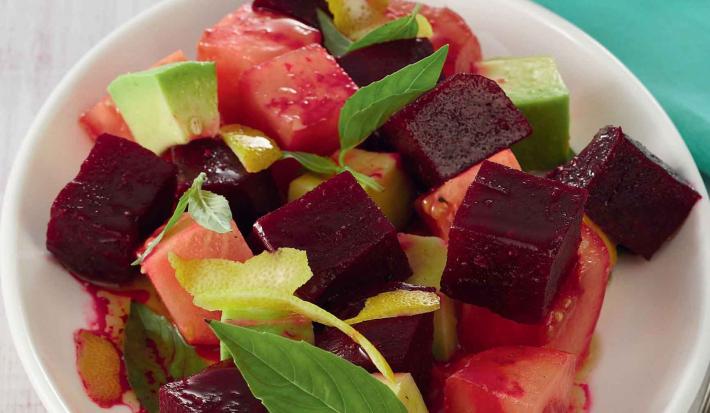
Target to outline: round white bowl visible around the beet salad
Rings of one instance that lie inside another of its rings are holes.
[[[74,365],[72,333],[85,325],[90,299],[44,247],[50,204],[91,146],[77,116],[116,75],[147,67],[180,48],[191,53],[202,30],[238,3],[170,0],[124,25],[66,76],[25,139],[3,208],[0,261],[15,345],[52,412],[99,410],[84,394]],[[524,0],[446,4],[467,18],[487,57],[556,58],[572,93],[576,149],[599,127],[623,125],[703,195],[680,233],[653,261],[629,256],[620,261],[597,330],[600,355],[590,377],[593,411],[688,411],[710,360],[710,208],[677,130],[616,58],[542,7]]]

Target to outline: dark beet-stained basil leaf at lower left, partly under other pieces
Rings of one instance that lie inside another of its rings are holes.
[[[170,321],[143,304],[131,302],[124,334],[123,359],[128,383],[149,413],[159,411],[160,386],[207,367]]]

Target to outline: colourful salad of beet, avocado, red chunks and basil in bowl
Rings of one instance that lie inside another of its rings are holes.
[[[254,0],[107,90],[46,242],[101,407],[588,411],[617,248],[700,199],[620,126],[575,154],[554,59],[445,7]]]

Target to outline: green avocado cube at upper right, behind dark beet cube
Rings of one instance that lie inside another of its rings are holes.
[[[512,149],[524,170],[545,171],[569,156],[569,91],[551,57],[483,61],[481,74],[495,80],[530,122],[533,134]]]

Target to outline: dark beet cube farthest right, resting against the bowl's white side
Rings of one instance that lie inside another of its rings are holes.
[[[606,126],[552,179],[589,191],[586,212],[614,241],[650,259],[700,195],[620,127]]]

